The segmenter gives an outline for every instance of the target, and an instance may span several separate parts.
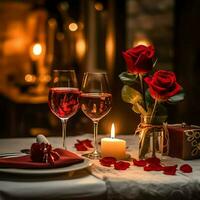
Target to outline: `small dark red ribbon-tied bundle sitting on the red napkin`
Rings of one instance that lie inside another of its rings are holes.
[[[54,164],[54,161],[60,158],[60,155],[52,150],[52,146],[46,143],[33,143],[31,145],[31,160],[33,162],[45,162]]]

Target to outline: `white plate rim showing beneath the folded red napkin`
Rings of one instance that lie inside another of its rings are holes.
[[[11,174],[29,174],[29,175],[46,175],[46,174],[60,174],[80,169],[85,169],[92,165],[89,159],[84,159],[82,163],[73,164],[67,167],[53,168],[53,169],[17,169],[17,168],[0,168],[0,173]]]

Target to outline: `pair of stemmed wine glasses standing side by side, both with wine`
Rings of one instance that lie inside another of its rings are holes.
[[[66,146],[67,121],[81,107],[83,113],[94,124],[94,150],[85,155],[98,159],[98,122],[111,109],[112,94],[110,93],[108,77],[105,72],[84,73],[81,91],[74,70],[54,70],[49,89],[48,104],[54,115],[62,122],[62,145]]]

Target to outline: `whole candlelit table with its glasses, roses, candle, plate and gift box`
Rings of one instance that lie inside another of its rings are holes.
[[[167,123],[165,104],[182,101],[183,88],[174,72],[156,69],[153,46],[123,57],[122,100],[141,117],[135,134],[116,134],[114,123],[108,135],[98,134],[114,101],[106,72],[86,72],[79,90],[74,70],[54,70],[48,105],[62,137],[1,139],[0,199],[198,199],[200,127]],[[68,136],[79,108],[94,132]]]

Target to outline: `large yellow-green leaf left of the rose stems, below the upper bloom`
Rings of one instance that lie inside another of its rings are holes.
[[[143,102],[142,94],[140,92],[138,92],[137,90],[131,88],[128,85],[125,85],[122,88],[121,95],[122,95],[123,101],[125,101],[126,103],[133,104],[132,110],[134,112],[146,114],[146,111],[143,108],[144,102]]]

